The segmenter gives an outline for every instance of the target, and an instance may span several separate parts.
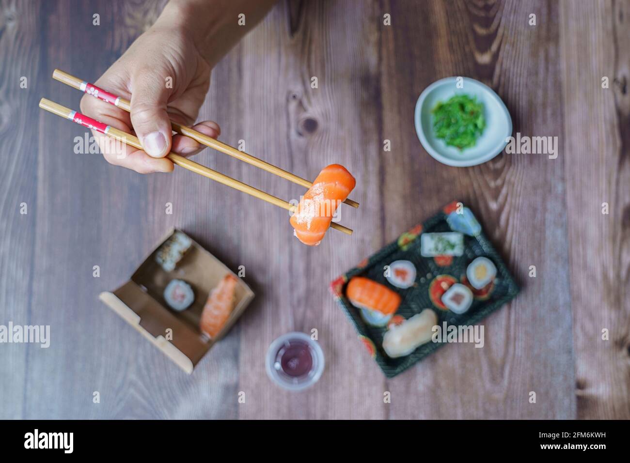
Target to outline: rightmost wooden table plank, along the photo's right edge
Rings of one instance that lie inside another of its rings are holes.
[[[627,420],[630,2],[564,1],[560,13],[577,416]]]

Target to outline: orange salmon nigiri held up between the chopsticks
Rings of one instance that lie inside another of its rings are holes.
[[[309,246],[317,246],[326,234],[337,207],[357,181],[340,164],[325,167],[300,200],[290,222],[293,234]]]

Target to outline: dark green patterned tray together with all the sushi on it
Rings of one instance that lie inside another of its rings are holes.
[[[336,278],[331,292],[392,377],[443,344],[436,327],[478,323],[518,286],[471,210],[452,202]]]

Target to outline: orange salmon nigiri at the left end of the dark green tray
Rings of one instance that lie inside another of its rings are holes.
[[[398,293],[365,277],[350,278],[346,296],[361,309],[365,321],[374,326],[385,326],[401,303]]]

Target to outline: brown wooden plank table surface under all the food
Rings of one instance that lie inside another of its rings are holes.
[[[1,3],[0,324],[49,324],[52,339],[0,345],[0,418],[630,418],[630,2],[279,4],[215,69],[200,118],[306,178],[333,162],[355,174],[361,207],[342,215],[355,234],[331,232],[316,249],[291,236],[285,211],[183,169],[142,176],[74,154],[84,130],[38,109],[42,96],[78,108],[53,69],[94,81],[161,2]],[[434,161],[413,110],[446,76],[490,85],[515,133],[558,137],[557,159]],[[197,161],[278,197],[303,191],[218,152]],[[455,198],[522,293],[485,320],[484,348],[446,346],[386,380],[328,282]],[[171,226],[244,265],[256,292],[190,376],[97,299]],[[263,354],[312,328],[326,371],[284,392]]]

